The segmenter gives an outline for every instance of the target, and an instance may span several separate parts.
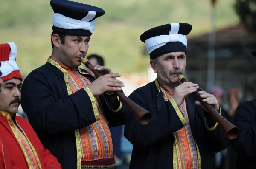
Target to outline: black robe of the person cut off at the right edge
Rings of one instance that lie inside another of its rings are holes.
[[[238,152],[237,169],[256,169],[256,99],[240,104],[234,115],[240,129],[232,146]]]

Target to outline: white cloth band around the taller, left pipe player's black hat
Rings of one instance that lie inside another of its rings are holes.
[[[53,14],[53,25],[58,28],[63,29],[83,29],[88,30],[93,33],[95,29],[95,20],[92,20],[96,15],[95,11],[88,11],[86,17],[81,20],[76,20],[70,17],[66,17],[63,14],[55,13]]]

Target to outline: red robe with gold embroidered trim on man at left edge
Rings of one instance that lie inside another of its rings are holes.
[[[23,132],[24,141],[20,138],[19,129]],[[11,118],[7,112],[0,111],[0,131],[4,152],[9,152],[9,157],[15,167],[19,169],[61,169],[61,164],[41,144],[29,122],[19,116]],[[25,143],[24,143],[25,142]],[[25,145],[26,146],[25,146]],[[8,168],[6,168],[8,169]]]

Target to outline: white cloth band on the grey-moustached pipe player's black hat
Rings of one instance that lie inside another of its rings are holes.
[[[169,35],[159,35],[145,40],[148,54],[150,54],[155,49],[166,45],[168,42],[181,42],[183,45],[187,46],[188,39],[186,38],[186,35],[178,34],[179,28],[179,23],[171,23],[171,31],[169,32]]]

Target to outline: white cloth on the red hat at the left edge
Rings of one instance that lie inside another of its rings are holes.
[[[11,47],[11,51],[10,51],[10,55],[9,55],[9,60],[7,61],[1,61],[1,67],[0,67],[0,71],[2,72],[2,76],[7,76],[10,73],[12,73],[15,70],[19,70],[20,68],[18,67],[15,59],[16,59],[16,55],[17,55],[17,46],[15,45],[14,42],[10,42],[8,43]]]

